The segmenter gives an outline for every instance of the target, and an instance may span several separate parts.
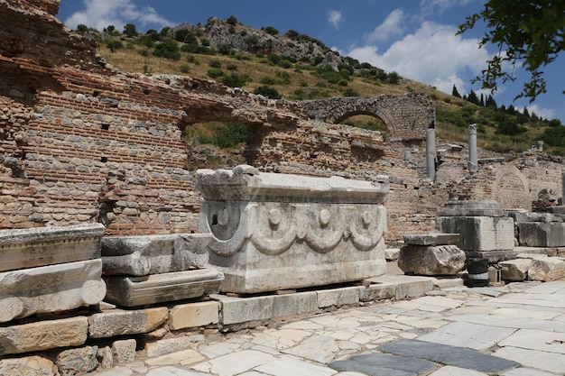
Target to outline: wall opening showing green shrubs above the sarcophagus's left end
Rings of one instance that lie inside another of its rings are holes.
[[[182,129],[187,145],[187,170],[232,169],[246,164],[248,125],[226,122],[188,124]]]

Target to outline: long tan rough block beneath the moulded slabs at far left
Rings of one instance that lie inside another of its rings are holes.
[[[88,319],[83,316],[0,327],[0,355],[79,346],[87,335]]]

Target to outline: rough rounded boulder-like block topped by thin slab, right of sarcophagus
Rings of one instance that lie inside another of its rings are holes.
[[[404,235],[398,267],[407,274],[456,275],[465,268],[465,252],[457,245],[459,234]]]

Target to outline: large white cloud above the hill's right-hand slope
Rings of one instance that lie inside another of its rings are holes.
[[[487,51],[478,49],[477,43],[477,39],[456,35],[455,26],[424,22],[416,32],[395,41],[383,53],[375,45],[366,45],[348,55],[448,94],[454,84],[459,93],[464,93],[468,78],[476,76],[488,59]]]

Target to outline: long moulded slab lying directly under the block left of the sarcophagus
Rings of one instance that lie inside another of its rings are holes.
[[[144,277],[110,276],[105,280],[107,301],[119,306],[136,307],[217,294],[224,275],[207,268]]]

